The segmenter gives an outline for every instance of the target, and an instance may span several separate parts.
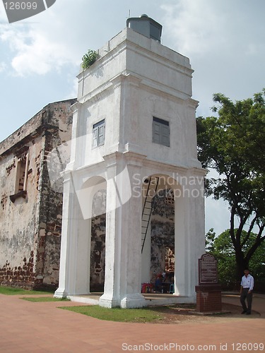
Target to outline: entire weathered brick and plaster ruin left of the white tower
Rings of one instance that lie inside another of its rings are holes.
[[[0,143],[0,284],[57,285],[61,244],[62,188],[53,189],[46,158],[71,139],[71,104],[48,104]],[[16,180],[15,155],[28,148],[25,198],[11,201]],[[57,185],[61,185],[59,180]]]

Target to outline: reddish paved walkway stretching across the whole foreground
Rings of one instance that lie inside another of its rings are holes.
[[[100,321],[57,308],[78,303],[33,303],[20,297],[0,294],[0,352],[265,351],[265,296],[258,294],[253,309],[260,315],[169,325]],[[238,304],[239,297],[228,294],[223,301]]]

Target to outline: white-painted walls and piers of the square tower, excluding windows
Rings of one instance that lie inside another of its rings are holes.
[[[176,191],[175,295],[192,298],[196,261],[205,247],[204,170],[196,157],[198,102],[192,99],[189,59],[130,28],[107,42],[99,54],[100,59],[78,75],[55,296],[89,293],[93,185],[88,184],[100,177],[107,188],[105,289],[100,305],[145,305],[141,280],[147,279],[148,270],[142,268],[148,268],[150,260],[141,256],[143,205],[136,190],[139,180],[141,191],[144,179],[158,175],[164,177],[161,187]],[[170,147],[153,143],[153,116],[168,121]],[[105,143],[93,149],[93,125],[102,119]]]

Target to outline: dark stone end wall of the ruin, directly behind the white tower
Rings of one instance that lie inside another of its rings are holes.
[[[40,186],[40,221],[39,244],[36,253],[36,283],[35,285],[54,285],[59,282],[59,263],[61,248],[61,220],[63,202],[63,180],[61,177],[51,184],[49,169],[54,162],[49,161],[49,154],[66,141],[71,140],[72,108],[75,100],[49,104],[42,114],[42,124],[45,130],[45,148],[42,160],[42,184]],[[69,150],[66,150],[69,152]],[[63,170],[69,162],[70,155],[61,151],[59,165]],[[51,162],[51,163],[50,163]]]

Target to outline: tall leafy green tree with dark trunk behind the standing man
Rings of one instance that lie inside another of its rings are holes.
[[[237,102],[218,93],[213,101],[218,116],[196,119],[198,156],[203,167],[218,173],[206,179],[206,196],[223,198],[230,208],[239,280],[265,239],[265,90]]]

